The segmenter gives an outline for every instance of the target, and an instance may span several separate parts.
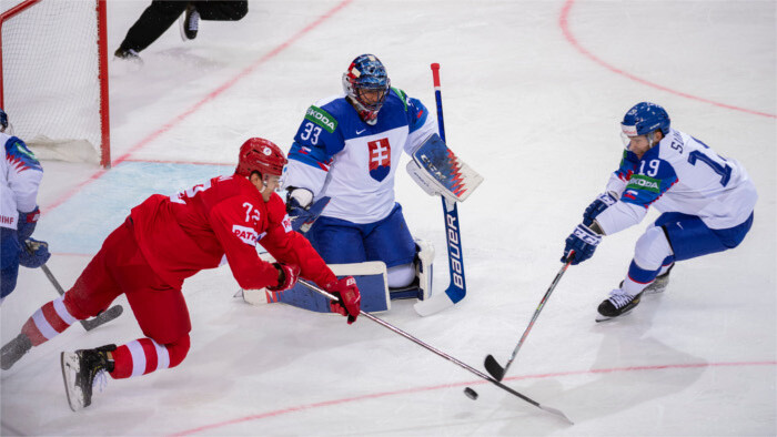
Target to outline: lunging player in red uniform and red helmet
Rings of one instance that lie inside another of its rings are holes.
[[[239,160],[233,175],[173,196],[154,194],[132,209],[75,285],[27,321],[11,342],[17,347],[3,347],[3,352],[22,350],[14,356],[3,353],[3,368],[31,346],[104,311],[121,294],[145,337],[119,347],[62,353],[70,407],[78,410],[91,404],[92,384],[100,373],[128,378],[178,366],[189,352],[191,331],[183,280],[218,267],[224,258],[243,288],[281,292],[302,275],[337,296],[341,302],[332,309],[353,323],[361,301],[355,281],[337,280],[307,240],[292,231],[285,205],[274,192],[286,163],[281,150],[254,138],[241,146]],[[256,243],[278,263],[260,260]]]

